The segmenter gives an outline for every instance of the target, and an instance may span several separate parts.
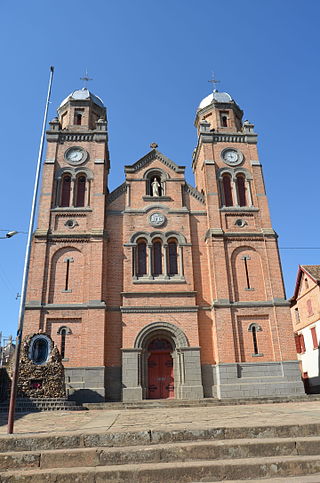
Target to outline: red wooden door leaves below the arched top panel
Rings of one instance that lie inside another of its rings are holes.
[[[173,360],[169,351],[151,352],[148,359],[148,399],[174,397]]]

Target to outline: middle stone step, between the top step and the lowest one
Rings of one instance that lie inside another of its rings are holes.
[[[0,453],[0,471],[25,468],[66,468],[169,463],[201,460],[234,460],[271,456],[318,456],[320,437],[275,438],[265,440],[239,439],[169,443],[120,448],[75,448],[60,450]]]

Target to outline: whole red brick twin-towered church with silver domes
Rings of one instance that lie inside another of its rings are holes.
[[[49,334],[80,401],[303,393],[257,134],[231,96],[197,109],[184,166],[157,150],[108,190],[106,108],[87,89],[47,131],[25,333]]]

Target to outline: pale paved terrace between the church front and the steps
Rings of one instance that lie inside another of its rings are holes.
[[[79,412],[17,413],[15,433],[68,431],[143,431],[235,426],[276,426],[320,423],[320,401],[243,406],[103,409]],[[7,432],[7,415],[0,414],[0,435]]]

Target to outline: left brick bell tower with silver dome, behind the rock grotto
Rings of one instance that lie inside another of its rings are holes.
[[[101,99],[86,88],[72,92],[50,122],[47,143],[24,331],[53,338],[69,394],[104,400],[109,152]]]

